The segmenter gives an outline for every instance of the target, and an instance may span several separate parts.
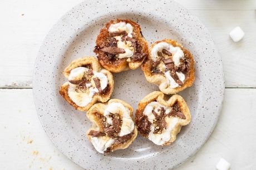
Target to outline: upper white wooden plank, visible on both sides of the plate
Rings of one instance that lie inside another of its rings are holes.
[[[32,87],[33,65],[43,39],[52,25],[81,1],[0,2],[0,87]],[[179,3],[193,9],[191,12],[203,21],[213,35],[223,58],[226,87],[256,87],[254,10],[215,10],[237,7],[251,9],[255,7],[255,1],[210,0],[206,3],[200,0],[182,0]],[[233,43],[228,33],[237,25],[244,29],[245,37],[242,42]]]

